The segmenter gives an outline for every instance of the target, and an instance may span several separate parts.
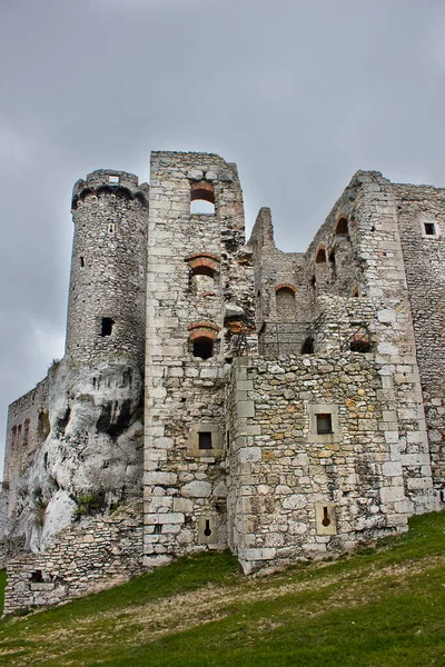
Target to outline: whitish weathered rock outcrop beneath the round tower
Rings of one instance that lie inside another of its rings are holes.
[[[55,365],[49,434],[16,480],[4,536],[24,534],[27,547],[39,551],[79,518],[140,498],[141,406],[141,374],[123,361]]]

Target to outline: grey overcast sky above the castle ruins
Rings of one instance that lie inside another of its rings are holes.
[[[439,0],[0,0],[0,439],[63,355],[78,178],[217,152],[303,251],[357,169],[445,186],[444,122]]]

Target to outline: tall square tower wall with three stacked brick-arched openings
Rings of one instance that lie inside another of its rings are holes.
[[[149,567],[227,544],[224,367],[234,352],[225,322],[236,313],[254,317],[235,167],[214,155],[155,152],[150,183],[145,455]],[[214,190],[214,215],[190,213],[196,183]],[[200,289],[202,276],[195,280],[192,266],[204,252],[215,262],[215,272],[211,286],[206,281]],[[204,360],[194,356],[192,346],[195,332],[199,337],[206,329],[215,340],[214,355]],[[199,450],[198,430],[211,432],[217,451]]]

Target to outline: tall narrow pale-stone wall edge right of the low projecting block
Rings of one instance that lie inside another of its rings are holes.
[[[384,389],[393,395],[393,428],[387,437],[404,470],[405,495],[412,514],[437,509],[425,411],[417,366],[397,203],[389,181],[377,172],[358,172],[355,220],[364,293],[377,307],[375,360],[382,365]]]

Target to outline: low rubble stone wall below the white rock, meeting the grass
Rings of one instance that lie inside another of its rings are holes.
[[[141,504],[62,530],[41,554],[8,563],[4,614],[122,584],[142,567]]]

